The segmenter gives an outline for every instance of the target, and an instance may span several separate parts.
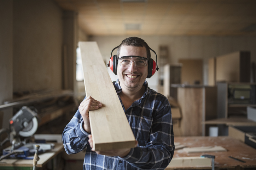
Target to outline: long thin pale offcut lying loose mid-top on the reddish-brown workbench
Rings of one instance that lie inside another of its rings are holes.
[[[183,150],[187,153],[227,151],[227,149],[222,146],[185,147]]]

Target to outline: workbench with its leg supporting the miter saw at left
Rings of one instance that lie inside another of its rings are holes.
[[[37,161],[37,168],[42,168],[49,161],[53,160],[60,152],[64,150],[62,143],[55,143],[54,149],[42,153]],[[53,162],[54,166],[54,162]],[[2,159],[0,162],[0,170],[32,170],[33,159]],[[54,169],[54,167],[53,167]]]

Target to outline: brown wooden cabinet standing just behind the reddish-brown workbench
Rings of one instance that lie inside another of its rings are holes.
[[[178,90],[178,103],[181,108],[181,130],[184,136],[204,136],[202,122],[217,117],[216,87],[181,86],[173,84]]]

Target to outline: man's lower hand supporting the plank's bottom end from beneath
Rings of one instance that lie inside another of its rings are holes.
[[[93,148],[93,144],[92,144],[92,135],[90,134],[89,136],[89,144],[92,148],[92,151],[95,151],[95,149]],[[136,141],[136,144],[134,145],[134,147],[138,146],[138,141]],[[114,149],[114,150],[107,150],[107,151],[95,151],[97,154],[100,155],[106,155],[106,156],[119,156],[119,157],[126,157],[129,152],[130,152],[130,148],[126,148],[126,149]]]

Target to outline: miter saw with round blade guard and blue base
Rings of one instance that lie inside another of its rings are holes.
[[[24,159],[33,159],[35,153],[35,145],[40,146],[38,153],[45,152],[54,148],[54,144],[38,144],[28,143],[28,137],[35,134],[38,122],[37,113],[27,106],[23,106],[10,120],[10,130],[1,129],[0,136],[6,134],[7,138],[1,141],[2,147],[7,141],[11,143],[11,146],[3,150],[3,156],[1,159],[7,157],[20,157]],[[22,141],[20,137],[25,139]]]

